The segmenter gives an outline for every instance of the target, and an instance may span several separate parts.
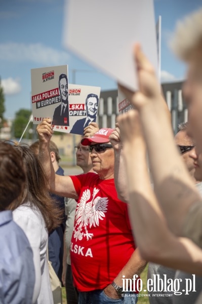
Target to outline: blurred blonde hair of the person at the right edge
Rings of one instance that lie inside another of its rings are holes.
[[[191,52],[200,44],[202,45],[202,8],[177,23],[170,46],[180,59],[187,61]]]

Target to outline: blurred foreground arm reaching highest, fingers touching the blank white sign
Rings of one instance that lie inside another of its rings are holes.
[[[154,69],[138,46],[134,57],[140,91],[134,93],[123,87],[122,90],[140,115],[157,199],[170,229],[183,236],[185,216],[189,208],[200,201],[199,194],[175,146],[170,115]]]

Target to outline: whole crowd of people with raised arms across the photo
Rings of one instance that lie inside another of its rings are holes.
[[[150,304],[202,302],[201,25],[202,10],[173,39],[188,65],[189,113],[175,137],[137,44],[139,91],[120,85],[135,109],[118,116],[115,129],[84,129],[75,146],[83,174],[64,175],[49,118],[30,147],[0,142],[1,303],[56,304],[48,259],[68,304],[137,303],[147,263],[148,280],[161,280]],[[178,290],[164,290],[165,276]],[[194,288],[185,293],[188,280]]]

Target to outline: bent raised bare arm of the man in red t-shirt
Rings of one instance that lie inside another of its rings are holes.
[[[51,119],[44,119],[36,128],[39,138],[39,159],[46,173],[49,189],[52,193],[60,196],[77,199],[73,182],[69,176],[55,174],[49,150],[49,142],[53,134]]]

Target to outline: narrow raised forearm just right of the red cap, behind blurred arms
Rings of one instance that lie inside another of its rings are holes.
[[[129,202],[129,194],[125,170],[126,164],[123,157],[123,144],[120,141],[120,130],[117,123],[109,139],[114,149],[114,183],[117,195],[119,200],[127,203]]]

